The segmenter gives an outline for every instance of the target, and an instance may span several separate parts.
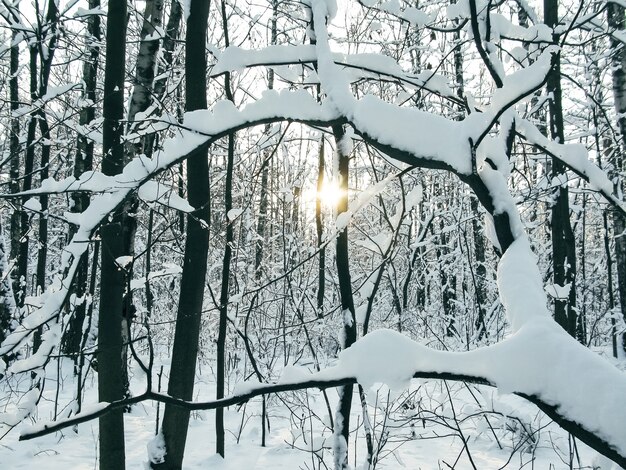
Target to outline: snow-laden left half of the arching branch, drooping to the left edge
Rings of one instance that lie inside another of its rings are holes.
[[[64,192],[68,188],[84,189],[84,186],[103,193],[93,198],[85,212],[72,214],[72,221],[79,228],[72,241],[64,248],[62,278],[51,284],[43,294],[41,307],[26,317],[0,345],[2,356],[19,349],[40,326],[47,324],[50,327],[44,334],[43,344],[37,353],[14,362],[7,372],[25,372],[46,364],[49,354],[61,338],[62,332],[57,320],[69,296],[80,257],[102,221],[124,204],[131,194],[137,190],[141,192],[142,185],[152,184],[151,180],[160,173],[185,159],[194,158],[213,142],[232,132],[285,120],[329,126],[340,122],[341,118],[328,106],[320,106],[306,92],[266,93],[263,98],[241,111],[230,102],[218,102],[210,111],[187,113],[184,122],[186,130],[166,142],[163,150],[153,158],[137,157],[115,177],[89,173],[84,181],[82,177],[78,180],[70,177],[59,182],[46,180],[43,185],[44,193]],[[156,197],[159,199],[158,195]]]

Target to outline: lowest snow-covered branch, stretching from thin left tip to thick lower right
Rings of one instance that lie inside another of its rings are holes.
[[[542,364],[539,371],[537,364]],[[569,370],[586,370],[593,377],[579,380],[566,373],[565,364]],[[219,400],[191,402],[147,391],[119,402],[97,404],[65,420],[33,426],[22,432],[20,439],[50,434],[146,400],[210,410],[269,393],[350,383],[369,387],[382,382],[401,389],[411,378],[418,378],[490,385],[501,393],[519,395],[590,447],[622,466],[626,464],[626,429],[622,426],[626,410],[620,406],[626,374],[578,344],[549,318],[521,328],[499,344],[459,353],[436,351],[399,333],[376,330],[343,351],[334,367],[314,374],[286,370],[284,377],[275,384],[244,382],[233,395]]]

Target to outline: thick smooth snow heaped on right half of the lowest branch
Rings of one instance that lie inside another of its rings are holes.
[[[382,382],[397,388],[420,372],[483,377],[501,393],[536,396],[626,453],[626,374],[547,316],[496,345],[470,352],[436,351],[395,331],[377,330],[342,351],[335,367],[310,378],[355,377],[364,385]]]

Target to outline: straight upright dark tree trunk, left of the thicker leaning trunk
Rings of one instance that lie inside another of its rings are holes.
[[[126,1],[109,0],[104,70],[102,172],[121,173],[124,165],[124,73],[126,66]],[[100,229],[102,267],[98,317],[98,391],[101,402],[124,398],[122,320],[124,269],[116,259],[124,255],[124,208]],[[125,468],[124,418],[121,409],[100,417],[100,468]]]

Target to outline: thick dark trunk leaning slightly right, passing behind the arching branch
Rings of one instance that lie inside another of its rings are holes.
[[[185,38],[186,60],[186,109],[194,111],[206,109],[206,29],[209,16],[209,2],[191,0]],[[168,384],[168,394],[191,400],[193,398],[196,360],[202,299],[206,277],[206,263],[209,237],[209,165],[208,151],[194,155],[187,162],[187,195],[189,203],[196,210],[187,219],[187,240],[183,274],[180,283],[180,297],[172,367]],[[180,470],[182,468],[189,410],[166,405],[163,413],[163,436],[167,454],[155,469]]]

